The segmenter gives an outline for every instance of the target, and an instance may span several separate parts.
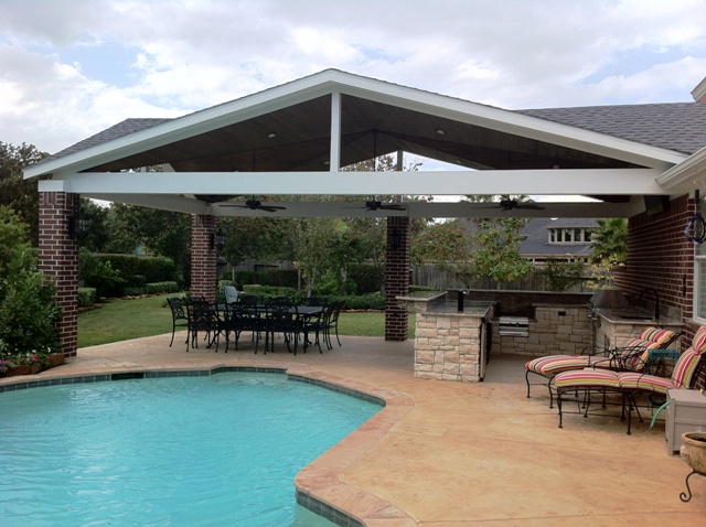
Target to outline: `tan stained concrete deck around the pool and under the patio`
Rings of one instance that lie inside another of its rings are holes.
[[[176,335],[79,349],[68,364],[18,381],[130,370],[225,366],[288,368],[289,373],[361,389],[387,407],[297,477],[319,501],[370,527],[671,526],[706,521],[706,477],[666,453],[664,423],[567,415],[558,429],[548,396],[525,397],[524,362],[494,353],[483,383],[413,376],[414,344],[342,337],[342,347],[292,356],[276,352],[189,353]],[[181,334],[183,340],[183,333]],[[662,418],[663,416],[661,416]]]

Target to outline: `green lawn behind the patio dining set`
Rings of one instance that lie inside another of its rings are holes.
[[[168,294],[132,300],[108,300],[100,309],[78,315],[78,347],[171,333],[172,314],[167,306]],[[414,315],[408,336],[414,338]],[[385,335],[384,313],[341,313],[340,335]]]

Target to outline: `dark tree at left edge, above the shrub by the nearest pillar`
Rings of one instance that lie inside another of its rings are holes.
[[[29,225],[32,245],[39,240],[39,192],[36,180],[24,180],[22,171],[47,155],[32,144],[13,147],[0,141],[0,205],[12,208]]]

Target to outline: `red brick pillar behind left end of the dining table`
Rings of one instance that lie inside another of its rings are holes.
[[[191,294],[216,299],[217,249],[213,244],[216,217],[197,214],[191,219]]]

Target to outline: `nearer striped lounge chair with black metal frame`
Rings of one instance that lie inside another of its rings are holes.
[[[606,404],[606,395],[612,392],[622,396],[621,417],[624,417],[625,405],[628,406],[628,434],[630,434],[631,415],[633,408],[637,410],[637,397],[642,394],[666,397],[670,389],[692,388],[704,366],[705,352],[706,326],[702,326],[694,335],[692,346],[681,354],[668,378],[640,372],[611,372],[595,368],[558,374],[554,378],[554,386],[559,409],[559,428],[563,427],[563,396],[566,394],[578,395],[582,391],[586,405],[584,415],[586,417],[592,392],[599,392],[603,396],[603,405]]]

